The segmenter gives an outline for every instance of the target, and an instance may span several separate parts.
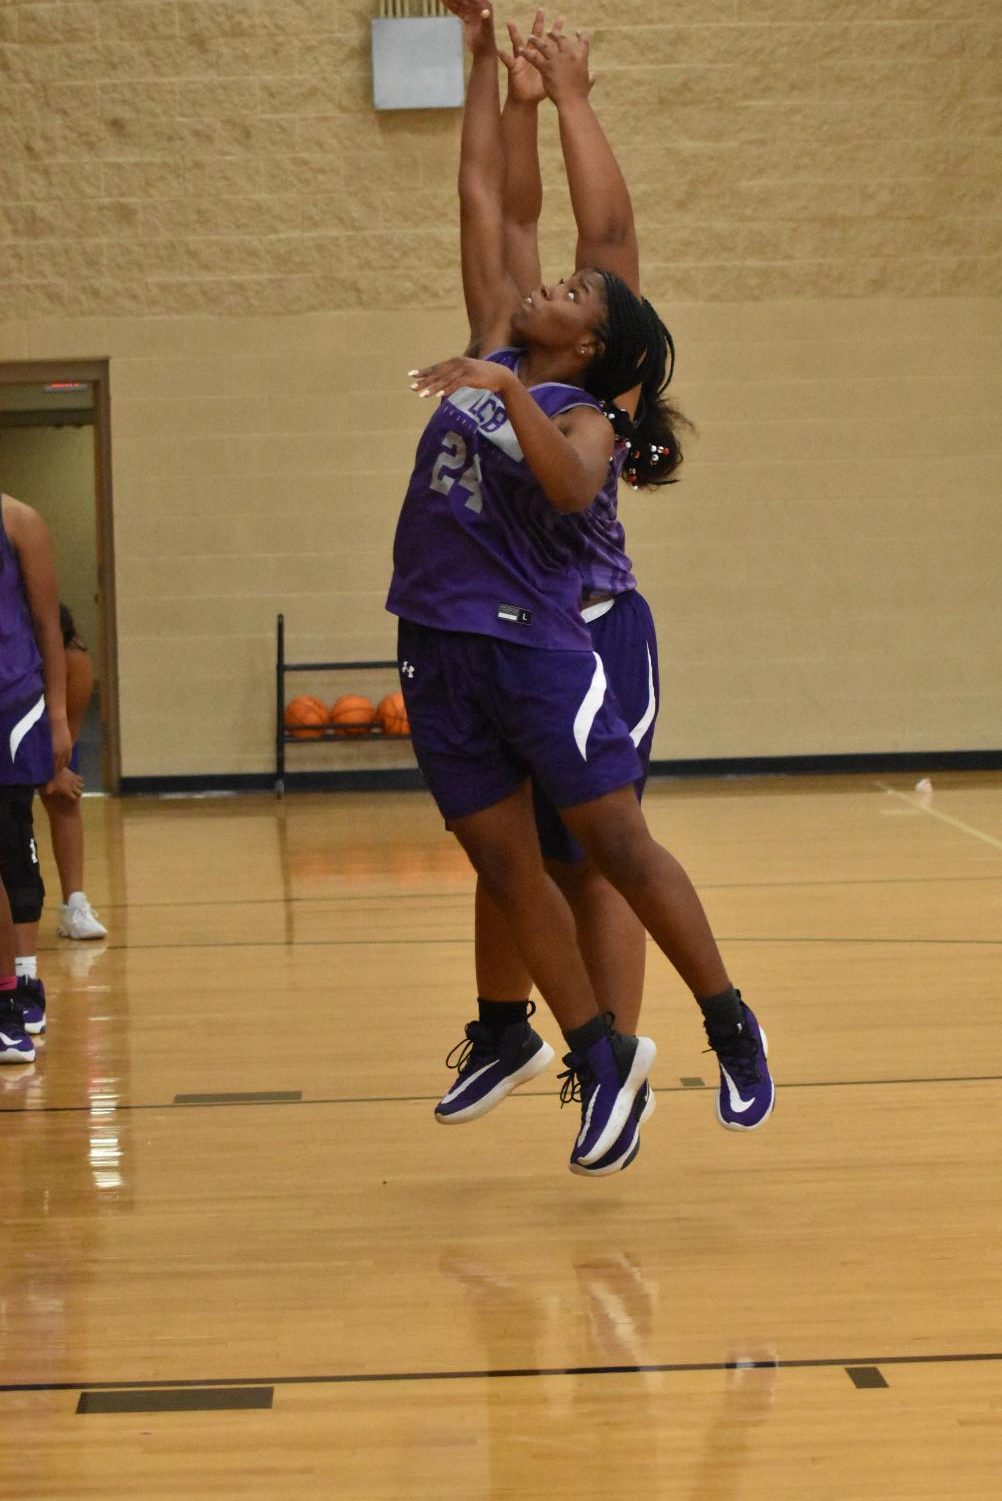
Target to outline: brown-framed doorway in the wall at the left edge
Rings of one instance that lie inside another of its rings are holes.
[[[0,488],[46,522],[60,599],[94,663],[80,735],[88,791],[120,784],[106,360],[0,363]]]

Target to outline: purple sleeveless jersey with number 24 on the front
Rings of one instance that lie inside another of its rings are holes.
[[[514,369],[520,350],[490,360]],[[548,417],[600,404],[578,386],[544,383],[531,393]],[[585,558],[612,566],[618,473],[585,515],[603,506],[594,531],[561,515],[522,458],[504,402],[462,387],[440,402],[422,434],[393,543],[387,609],[438,630],[500,636],[520,645],[591,651],[580,618]],[[621,531],[620,531],[621,536]],[[598,546],[598,537],[602,545]],[[620,551],[620,563],[628,560]],[[586,584],[586,588],[604,587]],[[622,585],[620,585],[621,588]],[[618,590],[616,590],[618,591]]]

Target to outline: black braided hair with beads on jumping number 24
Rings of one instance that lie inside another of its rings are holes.
[[[670,485],[682,462],[678,429],[692,423],[668,401],[664,389],[675,369],[675,344],[646,297],[636,297],[612,272],[600,272],[606,315],[596,329],[600,350],[582,384],[597,396],[616,438],[630,450],[622,467],[634,489]],[[640,386],[636,416],[615,399]]]

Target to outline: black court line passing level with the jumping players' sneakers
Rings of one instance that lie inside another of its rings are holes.
[[[998,1084],[1002,1073],[950,1073],[928,1079],[801,1079],[777,1081],[777,1090],[860,1090],[860,1088],[896,1088],[898,1085],[915,1084]],[[657,1094],[698,1094],[700,1088],[716,1090],[716,1084],[704,1079],[680,1079],[678,1084],[663,1084]],[[519,1090],[516,1100],[555,1100],[556,1090]],[[434,1105],[438,1094],[326,1094],[303,1099],[302,1090],[261,1090],[248,1094],[183,1094],[172,1100],[144,1102],[138,1105],[117,1103],[102,1105],[112,1114],[135,1111],[172,1111],[176,1105],[184,1109],[232,1109],[234,1106],[252,1105]],[[0,1105],[0,1115],[88,1115],[92,1105]]]

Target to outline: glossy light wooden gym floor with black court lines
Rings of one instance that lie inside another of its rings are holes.
[[[656,782],[764,1019],[586,1181],[556,1067],[432,1106],[471,877],[420,793],[86,803],[106,944],[0,1069],[4,1501],[994,1501],[1002,778]],[[549,1016],[542,1030],[558,1043]]]

